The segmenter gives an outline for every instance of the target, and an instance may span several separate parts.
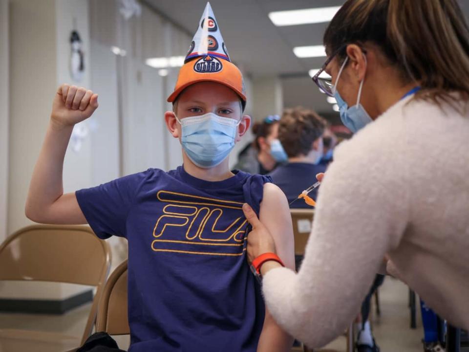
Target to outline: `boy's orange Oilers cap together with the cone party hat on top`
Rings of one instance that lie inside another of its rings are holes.
[[[168,102],[174,102],[187,87],[198,82],[217,82],[233,89],[246,105],[243,75],[230,60],[225,42],[215,20],[212,7],[207,2],[200,19],[184,65],[179,70],[174,91]]]

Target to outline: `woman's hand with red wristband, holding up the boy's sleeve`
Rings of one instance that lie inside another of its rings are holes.
[[[276,253],[274,239],[247,203],[243,205],[243,212],[253,227],[252,231],[248,234],[247,251],[249,263],[252,263],[261,254]]]

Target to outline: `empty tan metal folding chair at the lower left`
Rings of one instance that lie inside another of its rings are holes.
[[[96,286],[96,294],[82,336],[0,329],[0,351],[54,352],[81,346],[96,321],[110,263],[109,245],[88,226],[32,225],[9,236],[0,245],[0,280]]]

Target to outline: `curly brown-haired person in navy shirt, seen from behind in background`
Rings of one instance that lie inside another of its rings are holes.
[[[285,193],[289,203],[316,182],[316,174],[326,170],[325,166],[320,165],[325,126],[324,119],[312,110],[288,109],[282,114],[278,125],[278,140],[288,155],[288,163],[278,166],[269,176]],[[309,196],[316,199],[317,190]],[[292,207],[311,208],[302,200],[293,203]]]

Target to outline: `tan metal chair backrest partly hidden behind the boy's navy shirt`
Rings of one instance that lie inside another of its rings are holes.
[[[109,335],[130,333],[127,311],[127,260],[109,275],[99,303],[97,331]]]

